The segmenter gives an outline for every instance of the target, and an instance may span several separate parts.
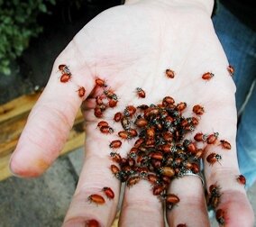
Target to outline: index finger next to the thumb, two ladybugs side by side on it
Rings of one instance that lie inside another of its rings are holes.
[[[96,129],[96,123],[87,125],[86,159],[81,171],[78,186],[63,226],[87,226],[95,220],[99,226],[110,226],[114,221],[120,194],[120,181],[114,177],[110,166],[114,162],[109,157],[107,143],[114,135],[105,136]],[[95,132],[90,134],[89,132]],[[103,188],[110,187],[114,198],[107,198]],[[90,195],[101,195],[104,204],[90,202]]]

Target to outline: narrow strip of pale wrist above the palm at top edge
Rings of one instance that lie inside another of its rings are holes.
[[[145,5],[166,5],[166,6],[193,6],[204,10],[211,15],[215,5],[214,0],[125,0],[125,5],[145,4]]]

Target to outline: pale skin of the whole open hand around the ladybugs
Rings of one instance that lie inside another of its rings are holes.
[[[177,103],[187,103],[185,115],[192,114],[194,104],[202,104],[206,113],[196,132],[219,132],[221,139],[232,144],[228,151],[217,145],[206,148],[206,188],[216,182],[221,186],[223,195],[218,208],[226,211],[227,227],[253,226],[253,212],[244,186],[235,180],[240,174],[235,148],[235,86],[211,22],[212,7],[210,0],[126,1],[87,23],[60,53],[49,83],[32,109],[10,168],[20,177],[38,177],[49,168],[84,101],[86,159],[63,226],[85,226],[89,219],[96,219],[101,226],[111,226],[120,194],[120,182],[109,169],[113,162],[109,159],[108,144],[117,140],[116,132],[121,130],[121,126],[113,123],[113,116],[127,104],[158,104],[166,95]],[[59,82],[59,64],[68,65],[72,72],[68,83]],[[175,71],[173,79],[165,77],[166,68]],[[215,74],[208,82],[201,78],[207,71]],[[119,97],[117,106],[104,115],[104,120],[115,129],[112,135],[96,130],[100,121],[93,114],[96,93],[88,96],[96,77],[104,78]],[[78,86],[86,88],[83,98],[78,97]],[[144,100],[135,95],[136,87],[145,90]],[[192,138],[196,132],[187,137]],[[118,151],[125,156],[132,143],[123,141]],[[210,166],[206,156],[213,151],[223,159]],[[98,206],[88,203],[87,196],[100,192],[104,186],[114,190],[114,200]],[[169,192],[180,198],[179,204],[167,212],[169,226],[209,226],[204,190],[198,177],[174,180]],[[147,181],[125,189],[121,226],[163,226],[163,215],[160,200],[152,195]]]

